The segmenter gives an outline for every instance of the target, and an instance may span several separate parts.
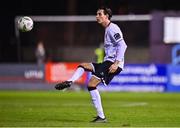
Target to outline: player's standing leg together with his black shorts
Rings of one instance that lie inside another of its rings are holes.
[[[96,87],[100,82],[102,82],[105,85],[108,85],[110,81],[113,79],[113,77],[120,73],[121,70],[118,68],[118,70],[115,73],[109,74],[109,67],[112,64],[113,63],[110,61],[105,61],[100,64],[93,63],[94,72],[92,72],[92,78],[89,81],[88,90],[91,94],[92,101],[97,110],[97,118],[94,119],[92,122],[106,122],[106,118],[104,116],[101,104],[101,97]]]

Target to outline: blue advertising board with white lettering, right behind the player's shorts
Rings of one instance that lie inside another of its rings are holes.
[[[166,65],[130,64],[114,77],[110,85],[101,84],[99,89],[102,91],[164,92],[166,83]]]

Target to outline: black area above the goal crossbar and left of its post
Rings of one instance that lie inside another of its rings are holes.
[[[178,0],[4,0],[0,4],[0,62],[17,62],[14,18],[18,15],[95,15],[99,6],[114,15],[179,11]],[[140,44],[139,44],[140,45]]]

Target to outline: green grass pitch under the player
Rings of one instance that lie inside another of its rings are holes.
[[[101,92],[108,123],[86,91],[0,91],[0,127],[178,127],[180,93]]]

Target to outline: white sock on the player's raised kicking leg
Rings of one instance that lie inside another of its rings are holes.
[[[72,81],[72,82],[76,81],[83,75],[83,73],[84,73],[84,68],[78,67],[74,72],[73,76],[68,81]]]

